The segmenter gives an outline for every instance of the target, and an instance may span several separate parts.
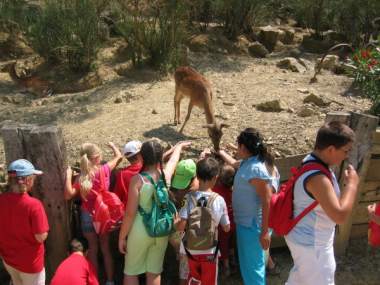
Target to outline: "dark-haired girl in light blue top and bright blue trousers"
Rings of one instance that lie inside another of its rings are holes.
[[[240,271],[245,285],[265,284],[265,250],[270,245],[269,202],[278,173],[261,134],[247,128],[237,138],[239,161],[219,151],[237,169],[232,194]]]

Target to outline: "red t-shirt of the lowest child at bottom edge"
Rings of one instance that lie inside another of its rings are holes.
[[[72,253],[58,266],[50,285],[99,285],[96,271],[83,255]]]

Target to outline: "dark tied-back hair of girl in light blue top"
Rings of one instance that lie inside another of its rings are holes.
[[[270,172],[273,171],[274,157],[269,152],[266,144],[264,143],[264,138],[258,130],[254,128],[246,128],[239,134],[237,143],[239,145],[244,145],[253,156],[258,155],[259,160],[261,162],[265,162],[267,167],[269,167]]]

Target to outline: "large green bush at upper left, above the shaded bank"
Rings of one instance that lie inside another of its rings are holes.
[[[93,0],[45,0],[27,35],[48,61],[88,71],[101,44],[100,17]]]

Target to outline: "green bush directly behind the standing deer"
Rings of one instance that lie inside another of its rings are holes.
[[[176,67],[186,37],[185,5],[181,0],[119,1],[116,26],[128,43],[133,64],[164,72]]]

